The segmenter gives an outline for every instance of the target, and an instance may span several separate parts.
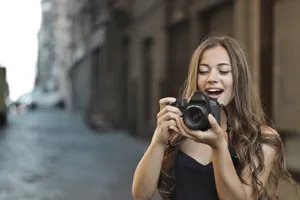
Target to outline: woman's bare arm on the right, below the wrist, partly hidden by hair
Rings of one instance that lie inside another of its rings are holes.
[[[264,166],[265,170],[258,176],[258,179],[263,185],[268,180],[269,174],[272,170],[273,160],[275,158],[275,150],[268,146],[263,145]],[[214,175],[216,187],[220,200],[252,200],[252,177],[250,168],[242,171],[241,177],[247,184],[243,184],[233,166],[231,156],[224,142],[212,151],[212,161],[214,165]],[[254,200],[254,199],[253,199]],[[257,200],[257,199],[255,199]]]

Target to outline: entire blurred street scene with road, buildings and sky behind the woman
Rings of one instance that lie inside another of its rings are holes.
[[[158,100],[178,96],[209,34],[243,45],[300,183],[299,8],[300,0],[0,0],[0,200],[133,199]],[[281,182],[280,199],[292,197]]]

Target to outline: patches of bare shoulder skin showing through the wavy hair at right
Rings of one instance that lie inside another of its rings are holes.
[[[275,138],[278,138],[280,140],[280,135],[275,129],[273,129],[269,126],[261,126],[260,130],[261,130],[261,133],[263,135],[265,135],[267,137],[268,136],[271,136],[271,137],[275,136]],[[277,144],[277,145],[279,145],[279,144]],[[268,158],[268,160],[270,160],[270,161],[273,160],[273,158],[277,154],[277,150],[278,150],[276,148],[277,145],[276,144],[274,145],[274,143],[273,144],[268,144],[268,143],[263,143],[262,144],[262,149],[263,149],[263,153],[264,153],[265,158]]]

